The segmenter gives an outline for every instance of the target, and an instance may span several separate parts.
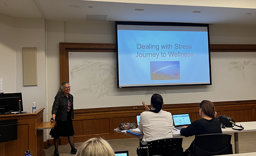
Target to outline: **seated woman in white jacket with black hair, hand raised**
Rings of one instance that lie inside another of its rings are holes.
[[[162,138],[172,138],[172,114],[162,110],[163,98],[159,94],[151,96],[151,109],[142,102],[144,111],[140,114],[140,131],[143,131],[143,141],[153,141]],[[137,149],[139,155],[139,148]]]

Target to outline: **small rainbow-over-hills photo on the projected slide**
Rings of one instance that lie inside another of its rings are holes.
[[[151,80],[180,80],[180,61],[151,61]]]

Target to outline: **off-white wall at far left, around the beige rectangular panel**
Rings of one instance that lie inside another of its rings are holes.
[[[42,18],[14,18],[0,14],[0,77],[4,93],[21,92],[23,110],[46,108],[45,24]],[[38,86],[23,86],[22,48],[37,48]],[[46,121],[46,110],[44,120]],[[45,135],[46,140],[46,135]]]

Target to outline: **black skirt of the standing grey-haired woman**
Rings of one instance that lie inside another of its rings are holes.
[[[51,129],[52,138],[68,137],[75,134],[73,122],[71,119],[71,111],[68,112],[67,121],[57,120],[54,129]]]

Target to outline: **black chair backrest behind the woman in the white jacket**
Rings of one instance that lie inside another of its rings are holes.
[[[182,140],[183,138],[164,138],[150,141],[150,145],[148,145],[149,156],[182,156]]]

